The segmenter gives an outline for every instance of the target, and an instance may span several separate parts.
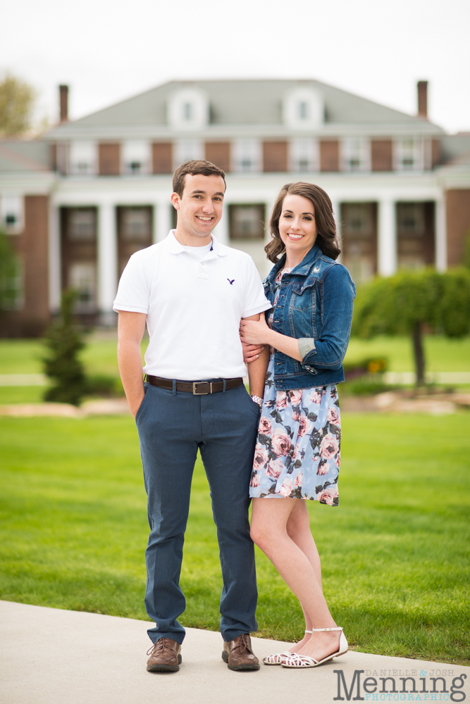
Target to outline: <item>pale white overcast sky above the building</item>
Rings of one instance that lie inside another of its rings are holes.
[[[470,132],[469,0],[15,0],[1,10],[0,77],[37,89],[56,122],[169,80],[314,78]]]

